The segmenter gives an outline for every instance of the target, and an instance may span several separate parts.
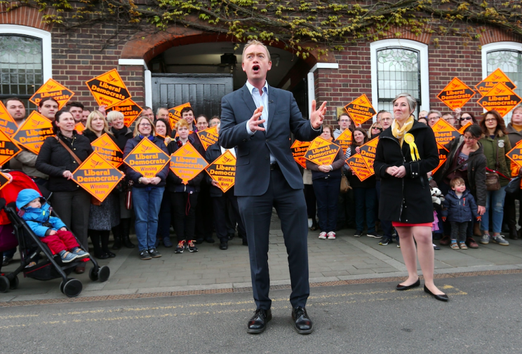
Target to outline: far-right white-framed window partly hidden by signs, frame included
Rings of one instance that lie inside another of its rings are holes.
[[[482,79],[501,69],[515,84],[515,93],[522,97],[522,43],[495,42],[482,46]],[[510,111],[504,121],[511,121]]]

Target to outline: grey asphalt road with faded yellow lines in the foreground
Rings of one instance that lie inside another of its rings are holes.
[[[312,288],[315,332],[291,326],[290,290],[274,290],[265,333],[246,333],[251,293],[0,308],[0,353],[522,353],[522,277],[436,280],[422,285]]]

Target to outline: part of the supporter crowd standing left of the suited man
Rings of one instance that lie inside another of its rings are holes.
[[[23,102],[13,97],[4,104],[15,123],[21,125],[27,118]],[[21,147],[20,154],[3,168],[22,170],[34,179],[43,193],[52,193],[50,203],[60,220],[74,233],[84,250],[88,250],[88,239],[91,238],[94,257],[116,257],[112,250],[135,247],[129,237],[132,220],[140,259],[161,257],[157,250],[160,244],[174,247],[170,240],[170,226],[178,238],[174,250],[178,254],[197,252],[196,244],[199,243],[214,243],[214,229],[221,250],[227,250],[228,241],[234,238],[236,230],[243,245],[248,245],[234,187],[223,193],[206,172],[201,172],[185,185],[168,164],[152,178],[143,177],[123,164],[120,168],[125,179],[102,203],[93,200],[72,180],[72,172],[93,153],[91,144],[104,134],[123,151],[123,158],[142,139],[149,139],[168,155],[190,142],[201,156],[213,162],[225,149],[217,143],[203,149],[196,132],[214,126],[219,129],[219,116],[209,120],[204,115],[195,116],[193,109],[186,107],[173,131],[168,110],[164,108],[157,109],[154,114],[150,107],[145,107],[133,128],[124,125],[124,116],[119,111],[107,111],[105,107],[89,111],[80,102],[68,102],[58,110],[58,102],[46,97],[39,102],[38,111],[53,122],[55,137],[44,141],[39,154]],[[80,123],[83,125],[81,132],[76,130]],[[235,156],[235,149],[229,150]],[[113,242],[109,247],[111,231]],[[3,264],[8,264],[14,253],[15,249],[4,252]],[[83,273],[85,268],[79,266],[75,271]]]

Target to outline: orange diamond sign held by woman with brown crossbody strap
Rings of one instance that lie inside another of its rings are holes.
[[[72,179],[91,196],[102,202],[121,179],[123,172],[102,158],[96,151],[72,173]]]

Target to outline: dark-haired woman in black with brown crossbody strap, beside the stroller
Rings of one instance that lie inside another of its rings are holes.
[[[72,172],[78,168],[74,157],[63,147],[71,149],[80,161],[93,153],[91,142],[74,130],[76,123],[68,111],[55,114],[56,136],[48,137],[42,144],[36,169],[49,175],[48,190],[53,192],[53,207],[60,219],[74,233],[84,250],[88,250],[87,226],[91,208],[91,195],[72,180]],[[76,267],[83,273],[84,266]]]

